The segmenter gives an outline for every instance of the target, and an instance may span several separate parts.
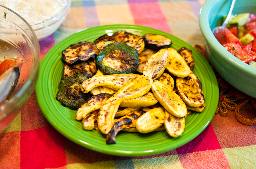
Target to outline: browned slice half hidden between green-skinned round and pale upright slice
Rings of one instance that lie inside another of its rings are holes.
[[[156,53],[156,51],[154,51],[152,49],[146,49],[139,54],[138,58],[140,61],[139,61],[139,66],[137,67],[137,72],[143,74],[143,68],[144,68],[146,62],[155,53]]]

